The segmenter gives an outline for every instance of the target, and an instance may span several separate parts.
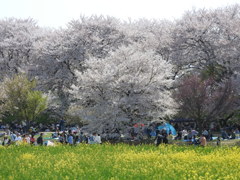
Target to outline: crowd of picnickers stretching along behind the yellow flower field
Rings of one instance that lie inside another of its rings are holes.
[[[14,125],[1,125],[1,129],[5,133],[0,133],[2,136],[1,144],[6,146],[10,144],[20,144],[26,143],[31,145],[51,145],[54,142],[59,142],[61,144],[76,145],[79,143],[87,144],[101,144],[102,138],[104,141],[119,139],[126,139],[127,141],[136,141],[143,139],[154,139],[156,146],[162,143],[169,143],[169,140],[182,140],[189,142],[189,144],[202,145],[205,146],[207,141],[216,139],[217,145],[220,145],[223,139],[235,139],[239,138],[240,132],[237,128],[226,131],[226,129],[221,129],[221,133],[218,137],[213,137],[212,131],[205,129],[200,134],[195,129],[183,129],[177,131],[177,135],[173,136],[170,131],[165,129],[158,129],[159,124],[151,124],[150,126],[140,126],[125,128],[123,132],[121,129],[115,129],[112,132],[104,131],[102,135],[98,133],[86,133],[86,131],[81,131],[80,128],[76,127],[65,127],[64,122],[61,121],[58,124],[52,124],[48,126],[38,125],[35,128],[31,127],[26,130],[25,125],[14,124]],[[44,132],[53,131],[51,138],[44,138],[43,133],[38,131],[41,128],[47,128]],[[37,137],[37,138],[36,138]],[[50,140],[51,139],[51,140]]]

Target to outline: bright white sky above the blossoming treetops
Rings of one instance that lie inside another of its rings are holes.
[[[33,18],[42,27],[65,27],[81,15],[121,20],[178,19],[192,8],[219,8],[240,0],[0,0],[0,19]]]

